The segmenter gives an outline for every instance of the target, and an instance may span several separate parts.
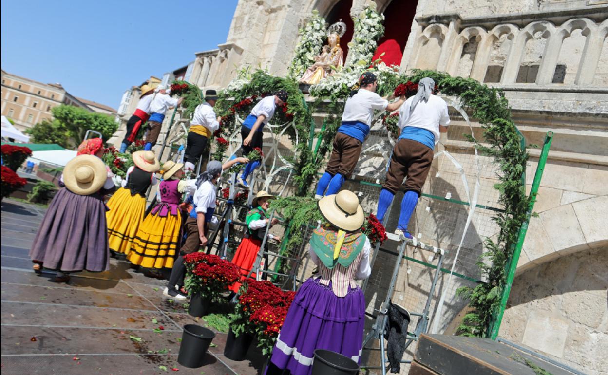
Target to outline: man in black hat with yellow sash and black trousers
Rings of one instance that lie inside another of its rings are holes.
[[[219,117],[213,111],[213,106],[215,106],[217,100],[217,92],[215,90],[207,90],[205,92],[205,101],[198,105],[194,111],[184,153],[186,171],[194,170],[199,157],[207,150],[213,132],[219,129]]]

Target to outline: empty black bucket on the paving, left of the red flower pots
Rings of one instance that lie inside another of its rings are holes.
[[[202,366],[213,337],[215,333],[210,329],[195,324],[185,325],[182,342],[179,345],[179,364],[188,368]]]

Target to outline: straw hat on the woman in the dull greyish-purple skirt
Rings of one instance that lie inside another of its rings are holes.
[[[69,191],[78,195],[89,195],[100,190],[107,177],[106,166],[97,156],[77,156],[63,168],[63,183]]]

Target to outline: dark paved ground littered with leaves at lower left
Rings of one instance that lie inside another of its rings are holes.
[[[260,372],[263,359],[255,351],[253,361],[226,359],[226,334],[219,332],[206,365],[179,365],[182,326],[205,323],[162,296],[165,281],[144,277],[125,262],[111,260],[107,272],[73,274],[68,284],[51,283],[53,274],[36,275],[28,252],[43,215],[40,206],[2,202],[3,375]],[[161,325],[164,331],[155,332]]]

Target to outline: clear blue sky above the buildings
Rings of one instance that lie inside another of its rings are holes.
[[[125,89],[226,42],[238,0],[2,0],[2,69],[117,109]]]

